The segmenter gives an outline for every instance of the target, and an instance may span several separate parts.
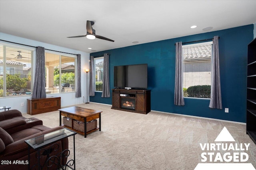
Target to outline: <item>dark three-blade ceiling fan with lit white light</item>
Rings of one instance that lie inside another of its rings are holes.
[[[106,37],[103,37],[103,36],[100,36],[100,35],[96,35],[95,34],[95,29],[92,28],[92,25],[94,25],[94,21],[86,21],[86,30],[87,30],[87,33],[86,35],[78,35],[78,36],[74,36],[74,37],[67,37],[67,38],[78,38],[78,37],[86,37],[88,39],[95,39],[96,38],[99,38],[99,39],[104,39],[104,40],[107,40],[107,41],[111,41],[111,42],[114,42],[114,40],[112,39],[108,39]]]

